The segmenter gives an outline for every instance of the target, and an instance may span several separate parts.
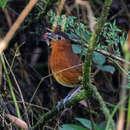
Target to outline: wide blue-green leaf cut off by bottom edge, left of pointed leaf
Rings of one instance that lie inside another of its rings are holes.
[[[61,127],[59,127],[59,130],[87,130],[87,129],[79,125],[64,124]]]

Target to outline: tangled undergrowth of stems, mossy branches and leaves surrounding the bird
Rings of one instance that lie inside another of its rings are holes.
[[[0,129],[129,130],[130,34],[120,24],[130,22],[129,5],[1,0]],[[82,91],[57,107],[71,89],[54,80],[41,37],[59,30],[84,64]]]

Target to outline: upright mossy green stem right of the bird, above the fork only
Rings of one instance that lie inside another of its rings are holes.
[[[91,64],[92,64],[92,55],[97,47],[97,40],[99,37],[99,34],[104,26],[104,23],[107,19],[107,16],[109,14],[109,8],[112,3],[112,0],[106,0],[104,3],[104,7],[102,9],[101,17],[99,19],[99,22],[95,25],[95,29],[92,33],[90,44],[88,46],[87,55],[85,59],[85,63],[83,65],[83,88],[86,90],[87,93],[89,93],[90,90],[89,86],[91,84]]]

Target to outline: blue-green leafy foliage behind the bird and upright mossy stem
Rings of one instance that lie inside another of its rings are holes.
[[[50,18],[49,23],[53,24],[56,18],[56,14],[51,10],[48,13],[48,16]],[[59,16],[57,26],[62,27],[64,17],[65,15]],[[91,32],[89,31],[87,25],[79,21],[77,22],[76,19],[77,18],[75,16],[68,16],[66,18],[64,29],[70,39],[76,39],[77,42],[79,41],[79,43],[81,43],[81,45],[72,44],[73,51],[77,54],[82,53],[83,55],[86,55],[87,48],[83,46],[86,43],[89,44]],[[106,22],[100,34],[100,39],[97,41],[99,42],[97,49],[108,51],[109,48],[112,48],[114,54],[116,56],[120,56],[121,54],[118,44],[120,43],[122,46],[125,40],[125,32],[123,32],[116,26],[116,21],[114,21],[113,23]],[[94,63],[96,63],[97,67],[100,70],[110,73],[115,72],[114,66],[104,65],[106,62],[106,57],[103,54],[94,52],[92,60]]]

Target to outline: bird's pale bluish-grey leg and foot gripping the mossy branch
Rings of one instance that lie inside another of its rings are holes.
[[[58,102],[56,105],[57,109],[59,110],[61,104],[63,104],[64,108],[66,108],[65,106],[66,102],[70,100],[72,97],[74,97],[80,90],[81,90],[81,87],[78,87],[71,94],[69,93],[62,101]]]

